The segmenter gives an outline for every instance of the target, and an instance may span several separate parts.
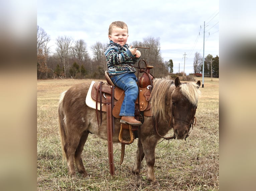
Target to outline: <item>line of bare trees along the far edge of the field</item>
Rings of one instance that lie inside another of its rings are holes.
[[[106,58],[104,55],[107,43],[96,42],[88,47],[85,40],[74,41],[72,37],[57,37],[56,48],[54,52],[50,51],[50,36],[37,26],[37,79],[55,79],[55,78],[74,78],[74,79],[103,79],[107,70]],[[144,59],[148,65],[153,65],[152,74],[161,78],[172,74],[173,62],[163,61],[160,53],[160,39],[146,37],[143,42],[132,42],[133,47],[147,47],[150,49],[140,49],[141,59]],[[90,56],[88,50],[92,51]],[[208,58],[209,57],[209,58]],[[214,72],[217,72],[217,58],[208,55],[205,61],[205,72],[209,73],[209,61],[214,59]],[[197,59],[196,59],[197,58]],[[202,56],[195,54],[194,71],[202,73]],[[144,66],[141,66],[144,67]],[[200,68],[201,67],[201,68]],[[219,67],[219,57],[218,57]],[[200,68],[200,69],[199,69]],[[207,68],[207,70],[206,70]],[[218,75],[219,77],[219,71]]]

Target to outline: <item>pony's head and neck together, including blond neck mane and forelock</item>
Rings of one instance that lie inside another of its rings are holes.
[[[153,118],[158,122],[168,122],[173,128],[176,139],[186,139],[194,123],[201,82],[180,83],[177,77],[174,82],[154,79],[153,85],[151,92]]]

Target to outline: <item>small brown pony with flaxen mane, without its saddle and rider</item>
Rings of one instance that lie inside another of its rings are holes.
[[[197,109],[198,90],[201,82],[180,83],[175,81],[154,79],[151,92],[151,113],[153,117],[144,117],[139,128],[139,141],[133,174],[140,173],[141,161],[145,157],[147,180],[158,184],[154,175],[155,147],[161,136],[173,128],[176,139],[185,139],[194,122]],[[102,125],[98,127],[96,110],[85,103],[90,84],[82,83],[71,87],[60,96],[58,106],[59,134],[63,158],[66,157],[71,175],[77,171],[84,178],[89,178],[82,161],[82,151],[89,133],[107,140],[106,113],[102,114]],[[153,123],[154,121],[154,123]],[[119,142],[120,119],[115,118],[113,142]],[[154,126],[155,125],[155,126]],[[157,132],[155,130],[157,127]],[[124,140],[130,140],[129,131],[123,133]],[[75,160],[75,164],[74,164]]]

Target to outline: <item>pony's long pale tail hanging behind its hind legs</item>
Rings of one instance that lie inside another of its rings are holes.
[[[64,98],[66,92],[67,91],[63,92],[60,95],[59,105],[58,105],[59,138],[60,138],[61,148],[62,148],[62,164],[64,163],[64,160],[66,159],[66,153],[64,151],[64,146],[65,146],[65,143],[66,143],[66,140],[67,140],[67,134],[66,134],[65,116],[64,116],[63,107],[62,107],[63,98]]]

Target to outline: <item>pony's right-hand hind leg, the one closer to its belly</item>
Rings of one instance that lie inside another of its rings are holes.
[[[79,145],[78,145],[78,147],[76,149],[76,152],[75,152],[75,163],[76,163],[77,171],[80,174],[82,174],[82,176],[86,179],[88,179],[89,176],[88,176],[88,173],[86,172],[84,164],[83,164],[82,152],[83,152],[84,145],[85,145],[85,142],[87,140],[88,134],[89,133],[86,132],[86,131],[83,133],[83,135],[81,136]]]

